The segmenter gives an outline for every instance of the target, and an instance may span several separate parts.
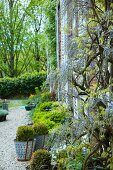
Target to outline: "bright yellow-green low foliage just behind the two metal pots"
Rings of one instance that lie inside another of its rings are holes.
[[[63,123],[65,117],[66,108],[58,102],[44,102],[37,105],[32,118],[34,123],[44,123],[49,130],[52,130]]]

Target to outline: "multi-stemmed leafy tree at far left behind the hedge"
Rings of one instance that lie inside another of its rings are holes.
[[[25,9],[19,1],[6,0],[1,2],[1,70],[11,77],[18,75],[17,67],[20,62],[26,31],[24,28]]]

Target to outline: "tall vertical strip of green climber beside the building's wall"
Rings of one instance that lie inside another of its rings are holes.
[[[49,5],[48,5],[49,4]],[[45,2],[45,14],[48,22],[45,25],[45,33],[48,38],[48,51],[50,63],[53,68],[56,67],[56,0]]]

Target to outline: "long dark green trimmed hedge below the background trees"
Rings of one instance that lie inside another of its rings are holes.
[[[46,73],[24,74],[17,78],[0,78],[0,98],[29,96],[35,93],[35,87],[41,88]]]

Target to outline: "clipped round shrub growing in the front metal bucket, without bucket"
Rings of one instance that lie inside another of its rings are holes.
[[[16,141],[30,141],[35,136],[34,129],[31,126],[19,126],[16,133]]]

